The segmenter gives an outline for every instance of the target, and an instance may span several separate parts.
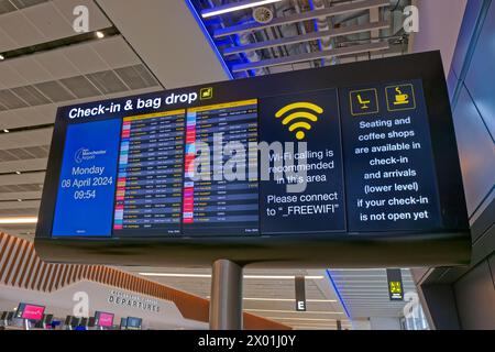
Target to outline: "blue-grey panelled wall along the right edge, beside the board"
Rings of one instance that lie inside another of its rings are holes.
[[[495,329],[494,63],[495,1],[470,0],[448,85],[473,255],[469,268],[436,268],[417,280],[437,329]],[[449,308],[436,309],[439,297]]]

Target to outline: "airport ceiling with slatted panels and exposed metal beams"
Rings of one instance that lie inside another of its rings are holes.
[[[230,2],[235,1],[0,0],[0,219],[37,217],[59,106],[408,52],[408,37],[400,29],[403,8],[410,1],[284,0],[260,12],[279,21],[267,28],[253,22],[252,10],[204,22],[191,12]],[[76,6],[89,9],[89,33],[74,31]],[[330,12],[315,18],[315,11],[320,11],[318,15]],[[284,22],[289,16],[292,20]],[[226,34],[241,22],[245,24],[246,19],[251,23],[248,31]],[[210,31],[212,42],[202,26]],[[338,35],[318,33],[326,31]],[[0,231],[32,240],[35,223],[0,223]],[[343,274],[336,273],[336,285],[352,288]],[[371,286],[380,286],[375,290],[380,299],[369,301],[383,309],[388,299],[385,274],[381,271],[375,275],[380,277]],[[208,280],[160,280],[201,296],[209,289]],[[329,287],[327,279],[311,280],[309,298],[337,299]],[[268,286],[266,280],[248,282],[246,293],[283,298],[294,293],[294,282],[273,280]],[[356,293],[362,299],[371,297],[363,289]],[[352,316],[365,317],[355,295],[344,294],[355,304]],[[290,301],[254,301],[246,307],[279,311],[294,308]],[[344,312],[333,302],[309,302],[309,308],[320,312],[307,319],[317,320],[294,322],[300,327],[315,322],[324,326],[327,321],[318,320],[321,315],[333,318],[333,311],[338,316]],[[395,317],[399,308],[391,308],[386,315]],[[280,317],[276,311],[257,312]],[[346,315],[343,317],[346,327]]]

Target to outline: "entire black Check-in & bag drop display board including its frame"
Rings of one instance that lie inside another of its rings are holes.
[[[56,257],[153,243],[131,261],[322,262],[342,245],[366,264],[384,240],[392,263],[416,261],[406,244],[469,256],[438,53],[61,108],[50,165],[36,245]]]

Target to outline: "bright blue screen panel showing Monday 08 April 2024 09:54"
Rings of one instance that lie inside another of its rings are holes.
[[[68,125],[52,235],[111,237],[120,131],[120,119]],[[95,152],[97,155],[90,156]],[[73,175],[73,168],[77,167],[105,167],[105,170],[99,174]],[[111,177],[112,182],[96,186],[94,177]],[[67,180],[74,185],[87,183],[88,179],[91,185],[67,187]],[[81,193],[86,194],[82,199],[76,199],[76,191],[79,191],[79,197]],[[92,191],[96,191],[95,196]]]

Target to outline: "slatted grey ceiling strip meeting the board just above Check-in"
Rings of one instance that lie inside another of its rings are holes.
[[[158,82],[153,75],[145,66],[140,64],[114,70],[0,90],[0,111],[157,86]]]

